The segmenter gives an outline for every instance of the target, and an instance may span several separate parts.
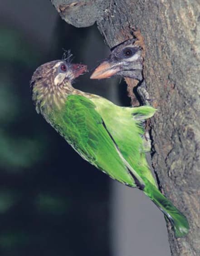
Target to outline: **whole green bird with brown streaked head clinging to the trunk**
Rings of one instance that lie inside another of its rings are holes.
[[[176,237],[185,236],[188,222],[166,199],[146,162],[142,122],[155,113],[150,106],[119,107],[98,95],[79,91],[73,80],[87,71],[69,59],[50,61],[38,67],[30,85],[37,113],[90,164],[112,179],[141,189],[167,216]]]

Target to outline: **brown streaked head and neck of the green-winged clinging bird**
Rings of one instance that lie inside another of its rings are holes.
[[[38,67],[30,81],[36,111],[61,108],[74,89],[73,80],[86,71],[86,65],[72,64],[66,60],[50,61]]]

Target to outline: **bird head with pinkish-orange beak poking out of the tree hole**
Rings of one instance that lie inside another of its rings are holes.
[[[91,79],[110,78],[112,76],[131,77],[142,80],[142,49],[134,45],[135,39],[129,39],[114,47],[107,60],[103,61],[91,75]]]

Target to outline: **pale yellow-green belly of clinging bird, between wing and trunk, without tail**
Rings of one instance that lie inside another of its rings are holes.
[[[124,159],[143,179],[156,185],[146,162],[146,138],[141,120],[150,118],[156,111],[150,106],[138,108],[119,107],[102,97],[93,97],[97,111],[102,116],[109,133],[117,143]]]

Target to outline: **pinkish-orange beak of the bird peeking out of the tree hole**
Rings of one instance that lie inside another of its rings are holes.
[[[91,79],[109,78],[120,71],[119,67],[115,67],[112,63],[103,61],[92,73]]]

